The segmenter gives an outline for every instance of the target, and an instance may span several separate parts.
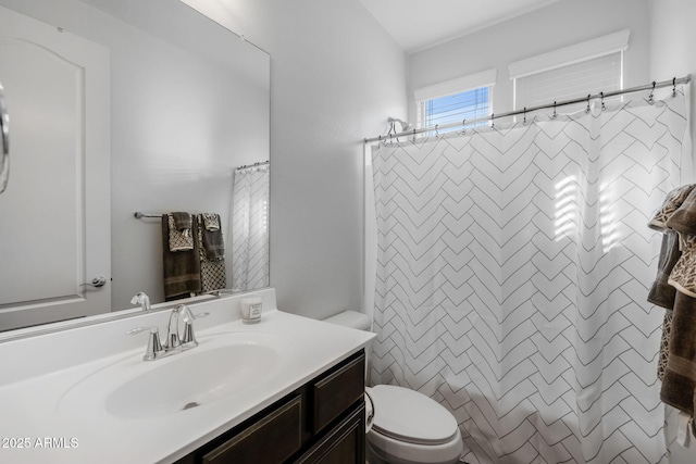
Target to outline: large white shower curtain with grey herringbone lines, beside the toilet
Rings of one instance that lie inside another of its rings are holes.
[[[467,462],[668,462],[647,221],[691,168],[684,104],[372,148],[372,381],[443,403]]]

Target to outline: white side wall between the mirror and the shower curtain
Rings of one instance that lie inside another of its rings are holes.
[[[278,308],[359,309],[363,137],[406,116],[406,57],[357,0],[245,0],[271,53],[271,285]],[[240,2],[236,2],[240,3]],[[235,10],[237,11],[237,10]]]

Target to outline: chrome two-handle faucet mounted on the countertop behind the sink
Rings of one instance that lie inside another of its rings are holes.
[[[145,294],[145,293],[144,293]],[[147,296],[146,296],[147,298]],[[196,335],[194,333],[194,321],[199,317],[206,317],[209,313],[199,313],[194,316],[191,310],[186,304],[178,304],[170,313],[170,321],[166,326],[166,340],[164,344],[160,342],[160,333],[158,327],[136,327],[126,334],[135,335],[149,330],[148,348],[142,359],[145,361],[158,360],[160,358],[181,353],[198,347]],[[179,319],[184,322],[184,331],[179,334]]]

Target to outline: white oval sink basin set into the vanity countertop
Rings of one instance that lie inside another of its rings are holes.
[[[291,351],[287,339],[270,334],[225,334],[199,342],[160,360],[142,361],[138,354],[103,367],[69,390],[59,410],[73,417],[95,406],[123,418],[181,413],[268,380]]]

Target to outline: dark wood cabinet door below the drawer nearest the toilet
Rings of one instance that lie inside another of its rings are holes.
[[[365,406],[361,404],[296,464],[364,464]]]

